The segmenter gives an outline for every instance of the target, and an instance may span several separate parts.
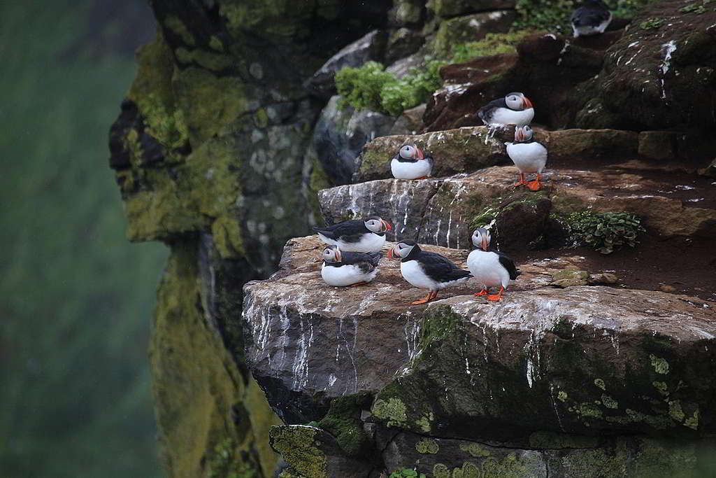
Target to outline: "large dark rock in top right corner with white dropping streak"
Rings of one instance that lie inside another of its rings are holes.
[[[691,1],[645,7],[607,51],[604,69],[581,90],[579,128],[713,130],[716,14],[681,11]],[[659,28],[639,27],[660,19]]]

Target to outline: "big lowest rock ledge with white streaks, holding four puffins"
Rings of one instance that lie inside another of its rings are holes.
[[[548,287],[574,257],[521,264],[498,303],[468,282],[410,306],[422,291],[397,262],[326,287],[320,249],[291,239],[279,272],[244,287],[246,358],[286,423],[271,436],[288,476],[662,476],[644,473],[694,469],[716,431],[714,302]]]

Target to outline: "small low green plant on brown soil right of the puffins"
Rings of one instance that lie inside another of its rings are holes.
[[[602,254],[637,244],[637,235],[645,229],[639,216],[626,212],[572,213],[567,217],[571,234],[577,242],[589,244]]]

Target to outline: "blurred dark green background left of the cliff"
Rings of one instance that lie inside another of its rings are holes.
[[[160,477],[161,244],[125,239],[107,131],[145,0],[0,2],[0,476]]]

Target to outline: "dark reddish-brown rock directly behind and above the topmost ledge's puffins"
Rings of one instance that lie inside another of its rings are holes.
[[[533,34],[518,54],[479,57],[442,67],[442,89],[428,102],[426,130],[480,125],[476,113],[490,100],[524,92],[535,105],[535,122],[563,127],[571,119],[569,95],[601,70],[603,52],[577,47],[556,34]]]

